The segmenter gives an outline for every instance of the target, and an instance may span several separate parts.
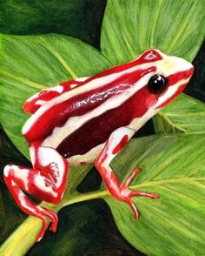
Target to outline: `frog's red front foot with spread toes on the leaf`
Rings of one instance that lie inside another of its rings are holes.
[[[141,191],[131,191],[129,190],[129,184],[135,179],[136,175],[141,172],[140,168],[136,168],[129,178],[121,185],[120,195],[117,195],[117,199],[122,200],[129,204],[130,208],[134,212],[134,218],[138,219],[139,214],[136,209],[136,205],[132,201],[132,197],[146,197],[150,199],[159,199],[160,196],[155,193],[141,192]]]

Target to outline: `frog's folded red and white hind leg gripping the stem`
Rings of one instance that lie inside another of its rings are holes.
[[[46,217],[49,217],[52,222],[50,230],[53,232],[56,232],[58,219],[55,212],[36,205],[24,192],[36,196],[37,199],[58,204],[66,189],[68,162],[52,148],[37,148],[35,145],[31,145],[30,152],[32,169],[6,165],[3,170],[3,178],[23,212],[42,219],[43,226],[36,237],[36,241],[40,241],[47,229]]]

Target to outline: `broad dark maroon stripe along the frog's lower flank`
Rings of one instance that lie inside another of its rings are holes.
[[[121,106],[89,120],[85,125],[65,138],[57,146],[56,151],[65,158],[78,154],[83,155],[96,147],[96,145],[104,143],[112,131],[121,126],[129,125],[133,118],[142,117],[156,101],[157,96],[150,94],[148,89],[143,87]]]

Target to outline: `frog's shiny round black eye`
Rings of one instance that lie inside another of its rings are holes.
[[[151,93],[160,93],[164,91],[168,84],[167,78],[162,75],[155,75],[149,79],[148,90]]]

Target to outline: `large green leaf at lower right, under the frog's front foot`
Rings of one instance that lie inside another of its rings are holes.
[[[204,255],[204,135],[132,140],[112,167],[124,181],[136,166],[142,172],[130,188],[160,199],[133,198],[140,212],[135,220],[127,204],[106,197],[122,235],[148,255]]]

